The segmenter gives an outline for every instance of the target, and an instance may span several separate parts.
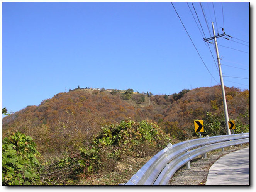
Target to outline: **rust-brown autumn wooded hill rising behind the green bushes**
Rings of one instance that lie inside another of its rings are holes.
[[[236,120],[236,131],[240,131],[242,125],[249,126],[249,90],[226,87],[225,92],[229,119]],[[103,125],[127,119],[153,120],[164,132],[181,140],[195,136],[194,120],[205,120],[205,134],[212,134],[210,125],[214,124],[219,129],[216,134],[225,134],[219,86],[182,90],[169,96],[129,94],[86,89],[58,93],[39,106],[27,106],[3,118],[2,137],[19,130],[33,137],[44,154],[73,150],[79,142],[89,143]],[[54,142],[49,144],[49,140]]]

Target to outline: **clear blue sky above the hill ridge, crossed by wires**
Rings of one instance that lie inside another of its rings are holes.
[[[212,21],[233,37],[217,38],[224,85],[249,89],[249,3],[173,5],[2,3],[2,107],[16,112],[78,85],[153,95],[218,85],[214,45],[203,41]]]

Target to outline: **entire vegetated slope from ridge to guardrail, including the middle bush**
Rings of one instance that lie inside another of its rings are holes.
[[[249,132],[249,90],[226,87],[225,92],[234,133]],[[169,142],[198,137],[194,120],[203,120],[203,136],[226,134],[219,86],[173,95],[70,90],[4,117],[2,138],[4,146],[16,143],[16,131],[33,138],[41,154],[37,185],[116,185]]]

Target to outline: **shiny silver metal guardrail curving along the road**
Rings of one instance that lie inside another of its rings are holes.
[[[229,147],[231,145],[250,142],[250,134],[220,135],[203,137],[168,144],[168,147],[158,152],[124,185],[168,185],[176,170],[209,151]]]

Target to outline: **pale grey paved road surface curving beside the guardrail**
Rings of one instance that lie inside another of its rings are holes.
[[[205,185],[250,185],[250,148],[220,157],[209,169]]]

